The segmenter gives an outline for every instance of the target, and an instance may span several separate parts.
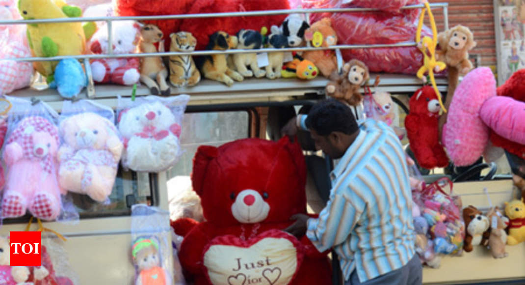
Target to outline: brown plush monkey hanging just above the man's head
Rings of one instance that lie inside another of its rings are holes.
[[[342,74],[334,70],[330,75],[330,82],[325,87],[325,93],[335,99],[343,100],[352,106],[357,106],[363,100],[359,89],[368,80],[368,67],[357,59],[345,63]]]

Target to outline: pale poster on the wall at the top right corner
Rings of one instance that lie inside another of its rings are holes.
[[[498,85],[525,68],[525,0],[495,0]]]

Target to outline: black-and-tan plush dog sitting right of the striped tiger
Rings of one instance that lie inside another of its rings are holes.
[[[237,37],[230,36],[225,32],[216,32],[209,36],[207,50],[227,50],[237,46]],[[212,80],[232,86],[234,81],[243,81],[244,77],[235,70],[228,68],[226,55],[215,54],[198,57],[196,64],[201,74]]]

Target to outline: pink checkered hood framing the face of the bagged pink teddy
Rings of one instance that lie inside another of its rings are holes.
[[[53,174],[53,157],[49,153],[45,157],[38,157],[34,153],[33,137],[31,136],[34,131],[49,133],[56,140],[56,144],[59,145],[58,128],[51,124],[49,120],[40,116],[26,117],[20,121],[7,139],[7,143],[18,142],[22,146],[24,157],[31,160],[41,160],[41,166],[44,171]]]

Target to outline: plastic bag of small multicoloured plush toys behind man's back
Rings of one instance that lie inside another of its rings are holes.
[[[452,195],[452,181],[448,177],[412,192],[414,226],[416,232],[432,241],[436,254],[461,255],[465,240],[465,222],[461,213],[461,199]]]

